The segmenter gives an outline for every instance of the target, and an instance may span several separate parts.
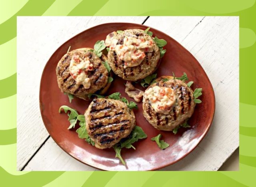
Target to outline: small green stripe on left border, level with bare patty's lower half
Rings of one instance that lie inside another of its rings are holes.
[[[0,145],[9,145],[16,143],[16,130],[17,128],[0,130]]]

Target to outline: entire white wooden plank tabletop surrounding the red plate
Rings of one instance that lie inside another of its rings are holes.
[[[165,32],[196,57],[212,82],[216,111],[210,131],[187,157],[161,170],[216,171],[230,157],[239,145],[239,18],[146,18],[17,18],[17,170],[96,170],[70,157],[49,136],[38,95],[52,53],[72,36],[106,22],[144,23]]]

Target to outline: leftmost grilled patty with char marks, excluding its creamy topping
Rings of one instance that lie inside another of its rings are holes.
[[[57,82],[60,90],[82,99],[86,99],[86,95],[94,93],[107,86],[108,83],[108,70],[101,63],[106,61],[107,58],[102,54],[101,58],[91,52],[91,48],[81,48],[73,50],[65,54],[56,67]],[[88,57],[90,63],[93,65],[93,70],[88,71],[88,77],[90,78],[90,88],[85,89],[82,84],[76,84],[76,81],[72,78],[69,66],[71,58],[74,54],[78,54],[81,58]]]

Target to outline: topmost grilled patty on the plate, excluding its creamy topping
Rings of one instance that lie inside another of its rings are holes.
[[[120,60],[114,50],[108,52],[108,63],[113,72],[124,80],[137,81],[152,74],[158,67],[158,61],[160,59],[160,50],[151,36],[146,34],[144,30],[129,29],[124,30],[122,33],[114,36],[118,40],[117,44],[124,43],[124,37],[130,36],[138,39],[144,39],[146,41],[153,41],[153,52],[145,52],[145,58],[140,65],[134,67],[124,68],[124,61]]]

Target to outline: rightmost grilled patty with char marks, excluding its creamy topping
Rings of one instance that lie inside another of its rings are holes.
[[[164,78],[169,80],[164,82]],[[156,83],[150,85],[149,88],[154,86],[172,88],[176,95],[176,102],[168,114],[157,113],[151,106],[149,99],[144,95],[143,98],[143,115],[148,122],[156,129],[163,131],[171,131],[178,125],[184,123],[188,117],[194,112],[195,103],[194,95],[191,88],[181,80],[173,79],[171,76],[162,76],[156,79]]]

